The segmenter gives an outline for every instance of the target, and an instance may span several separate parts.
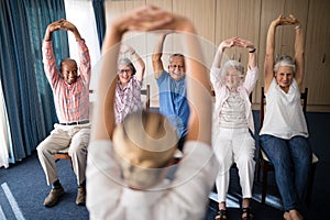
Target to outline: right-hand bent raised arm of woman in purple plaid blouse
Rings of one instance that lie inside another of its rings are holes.
[[[128,44],[121,45],[120,53],[121,54],[130,54],[131,62],[133,63],[133,65],[136,69],[135,76],[139,81],[142,81],[143,77],[144,77],[144,72],[145,72],[145,64],[144,64],[143,59],[141,58],[141,56],[136,53],[136,51],[132,46],[130,46]]]

